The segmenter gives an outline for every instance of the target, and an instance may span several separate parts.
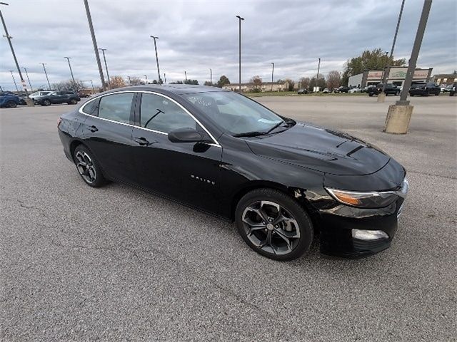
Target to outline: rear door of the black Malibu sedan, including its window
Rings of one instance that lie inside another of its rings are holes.
[[[92,107],[82,108],[87,115],[83,135],[86,145],[100,162],[104,173],[115,180],[131,182],[132,128],[136,93],[104,95]],[[89,112],[89,113],[86,113]]]

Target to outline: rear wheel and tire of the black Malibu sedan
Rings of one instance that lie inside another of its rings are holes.
[[[89,187],[102,187],[106,184],[99,162],[89,148],[84,145],[76,146],[73,152],[73,160],[76,170]]]

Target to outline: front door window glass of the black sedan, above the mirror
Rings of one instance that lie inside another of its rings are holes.
[[[176,103],[160,95],[141,95],[140,125],[169,133],[178,128],[196,128],[195,120]]]

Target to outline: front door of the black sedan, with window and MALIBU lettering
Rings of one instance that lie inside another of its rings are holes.
[[[168,133],[178,128],[204,131],[171,98],[143,93],[132,149],[136,177],[150,190],[194,207],[219,212],[220,162],[217,144],[171,142]]]

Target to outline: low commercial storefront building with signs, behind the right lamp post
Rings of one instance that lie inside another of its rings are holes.
[[[414,71],[413,81],[430,81],[431,71],[433,68],[421,69],[416,68]],[[396,86],[403,86],[406,78],[407,66],[388,66],[386,73],[388,75],[388,83],[393,83]],[[348,86],[353,87],[366,87],[372,84],[378,84],[383,81],[384,73],[382,70],[366,70],[363,73],[349,77]]]

